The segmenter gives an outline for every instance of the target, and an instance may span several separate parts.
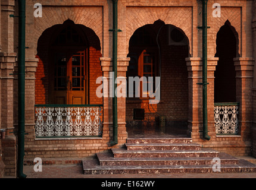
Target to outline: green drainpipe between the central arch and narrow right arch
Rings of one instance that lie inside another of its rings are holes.
[[[203,138],[210,140],[207,126],[207,2],[202,0],[202,119]]]

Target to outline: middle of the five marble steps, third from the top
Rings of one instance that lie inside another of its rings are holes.
[[[112,148],[114,157],[218,157],[218,151],[210,148],[201,150],[126,150]]]

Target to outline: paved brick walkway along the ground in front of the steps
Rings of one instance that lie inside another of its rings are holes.
[[[255,172],[84,175],[81,164],[43,165],[42,172],[35,172],[33,167],[24,166],[27,178],[256,178]]]

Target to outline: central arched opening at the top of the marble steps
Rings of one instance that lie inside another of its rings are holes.
[[[130,57],[127,79],[145,77],[148,88],[147,91],[143,89],[143,80],[137,94],[135,84],[133,93],[127,87],[126,126],[129,137],[136,134],[167,135],[174,131],[186,134],[188,70],[185,58],[189,56],[188,44],[188,37],[182,30],[161,20],[147,24],[133,33],[127,55]],[[157,83],[151,81],[154,85],[150,88],[149,77],[161,77],[161,100],[155,105],[149,104],[149,94],[158,89]],[[160,118],[163,117],[165,124],[160,126]]]

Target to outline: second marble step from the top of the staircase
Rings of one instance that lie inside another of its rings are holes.
[[[196,143],[126,143],[127,150],[200,150]]]

